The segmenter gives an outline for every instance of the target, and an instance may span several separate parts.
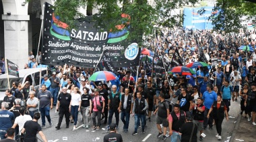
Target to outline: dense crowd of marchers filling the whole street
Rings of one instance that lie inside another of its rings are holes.
[[[6,90],[2,104],[3,111],[0,112],[1,116],[8,115],[8,117],[0,117],[1,139],[5,139],[6,133],[8,137],[12,137],[13,130],[10,128],[15,129],[15,135],[26,131],[30,134],[25,135],[25,139],[28,137],[36,139],[28,127],[33,125],[45,140],[42,133],[42,129],[46,127],[45,117],[49,127],[52,127],[50,111],[56,108],[59,112],[56,129],[61,129],[65,116],[66,128],[73,123],[72,130],[76,131],[78,114],[81,112],[85,129],[99,130],[102,125],[106,125],[111,133],[115,133],[116,129],[119,129],[121,119],[123,131],[128,133],[130,130],[131,135],[137,135],[139,128],[142,133],[146,132],[147,123],[152,121],[152,115],[156,115],[155,123],[159,131],[156,137],[158,138],[166,139],[170,135],[172,142],[176,142],[177,139],[197,141],[197,131],[199,131],[201,141],[203,130],[207,127],[212,130],[213,125],[216,125],[216,137],[220,140],[222,139],[222,121],[224,118],[228,120],[230,102],[238,101],[239,97],[241,98],[241,115],[245,112],[244,116],[248,121],[252,119],[252,124],[256,125],[255,31],[251,31],[249,37],[243,37],[246,34],[240,33],[236,40],[232,40],[235,36],[226,38],[222,34],[211,33],[212,36],[209,36],[208,31],[200,32],[200,36],[195,35],[199,34],[198,31],[191,36],[182,32],[178,29],[173,32],[163,32],[164,38],[158,38],[159,40],[154,41],[154,44],[150,44],[148,48],[157,48],[158,53],[169,58],[172,58],[172,54],[178,49],[184,59],[183,65],[186,66],[200,60],[198,44],[200,41],[209,66],[193,69],[195,74],[182,76],[166,72],[163,76],[156,77],[154,68],[152,72],[152,67],[146,69],[145,66],[140,65],[139,72],[118,68],[116,80],[94,82],[89,78],[95,68],[65,65],[55,66],[51,74],[43,74],[38,93],[34,88],[28,90],[29,82],[25,84],[11,82],[12,88]],[[194,36],[199,38],[195,40]],[[214,43],[213,47],[209,42],[210,37]],[[225,42],[225,39],[228,39],[227,41],[231,39],[231,44]],[[250,46],[253,50],[255,48],[255,52],[238,50],[243,45]],[[34,58],[32,53],[29,57],[31,61],[25,68],[33,68],[37,64],[37,57]],[[26,102],[25,110],[19,106],[22,100]],[[115,122],[113,122],[114,114]],[[135,119],[134,130],[129,129],[131,115]],[[21,118],[22,122],[20,122]],[[39,118],[42,119],[40,127],[37,123]],[[13,124],[11,121],[14,120]],[[106,141],[113,135],[108,135]],[[120,135],[113,137],[121,139]]]

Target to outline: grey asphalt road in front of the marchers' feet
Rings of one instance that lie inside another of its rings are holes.
[[[236,119],[238,117],[238,114],[240,113],[240,98],[238,98],[238,102],[231,102],[230,106],[230,118],[229,121],[226,121],[224,119],[222,123],[222,141],[228,142],[230,141],[230,137],[232,135],[232,131],[234,130],[234,125],[236,123]],[[55,113],[55,108],[51,110],[51,119],[53,121],[53,127],[49,127],[49,124],[46,123],[46,128],[42,129],[44,135],[46,135],[46,139],[48,141],[71,141],[71,142],[90,142],[90,141],[103,141],[104,135],[108,133],[108,131],[104,130],[106,125],[102,125],[100,130],[92,131],[90,126],[90,129],[85,129],[82,127],[82,119],[79,114],[79,127],[77,130],[72,131],[73,129],[73,123],[69,125],[69,128],[65,128],[65,120],[63,119],[63,123],[61,124],[61,129],[56,130],[55,126],[58,123],[59,115],[58,113]],[[104,121],[104,120],[103,120]],[[102,121],[102,123],[103,123]],[[115,117],[113,117],[113,122],[115,123]],[[38,121],[39,124],[41,124],[41,120]],[[91,122],[92,124],[92,122]],[[138,129],[138,135],[131,135],[134,131],[134,117],[131,116],[130,123],[129,123],[129,132],[124,133],[123,132],[123,122],[119,121],[119,129],[117,130],[118,133],[121,133],[123,137],[123,141],[125,142],[135,142],[135,141],[170,141],[170,137],[168,137],[166,140],[162,140],[161,138],[157,138],[156,135],[158,135],[158,129],[156,128],[156,116],[152,116],[152,121],[147,121],[146,126],[146,133],[141,133],[141,128]],[[216,127],[214,125],[213,130],[209,130],[209,127],[204,131],[206,137],[203,138],[203,141],[218,141],[218,139],[215,137],[217,134]],[[38,136],[40,138],[40,136]],[[197,134],[197,137],[199,137],[199,133]],[[39,140],[40,141],[40,140]],[[199,141],[199,139],[198,139]]]

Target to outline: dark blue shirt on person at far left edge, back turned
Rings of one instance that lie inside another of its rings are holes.
[[[0,111],[0,130],[7,131],[7,129],[11,128],[14,119],[14,114],[10,111]]]

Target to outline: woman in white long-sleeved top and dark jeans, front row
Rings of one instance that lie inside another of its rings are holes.
[[[79,91],[79,88],[75,87],[73,90],[73,93],[71,93],[71,103],[69,104],[69,111],[71,111],[71,115],[74,120],[73,131],[75,131],[77,127],[77,117],[78,117],[78,111],[80,111],[80,108],[81,108],[81,92]]]

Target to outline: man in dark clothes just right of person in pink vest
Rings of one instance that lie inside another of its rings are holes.
[[[100,93],[100,96],[103,96],[105,99],[104,113],[102,113],[101,119],[105,118],[104,124],[106,124],[106,121],[108,119],[108,91],[102,87],[101,82],[98,84],[98,89],[99,89],[98,92]]]

